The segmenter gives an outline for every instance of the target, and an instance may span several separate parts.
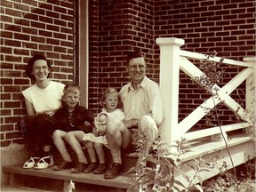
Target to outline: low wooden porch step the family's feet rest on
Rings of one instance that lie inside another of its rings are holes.
[[[109,154],[107,156],[109,157]],[[105,187],[105,188],[110,188],[109,191],[122,191],[122,189],[126,190],[132,185],[132,182],[133,182],[132,178],[129,177],[126,174],[126,172],[137,163],[137,158],[138,156],[136,154],[124,154],[122,156],[124,172],[123,174],[119,175],[116,179],[111,179],[111,180],[104,179],[104,174],[71,173],[70,170],[56,172],[56,171],[53,171],[52,167],[44,170],[23,169],[22,164],[4,166],[3,172],[9,175],[10,186],[17,185],[17,183],[19,183],[19,180],[25,180],[21,185],[25,185],[27,187],[29,187],[28,186],[29,182],[34,182],[34,186],[35,186],[36,182],[37,183],[38,182],[53,183],[56,180],[58,180],[59,187],[57,187],[58,188],[57,191],[61,191],[61,190],[66,191],[70,180],[72,180],[75,183],[75,185],[85,184],[85,185],[90,185],[91,186],[90,188]],[[108,159],[108,165],[110,163],[111,161],[109,161]],[[46,189],[50,189],[50,186],[48,187],[49,188],[46,188]],[[89,190],[86,189],[86,191],[89,191]],[[100,191],[100,190],[95,189],[95,191]],[[106,191],[108,190],[106,189]]]

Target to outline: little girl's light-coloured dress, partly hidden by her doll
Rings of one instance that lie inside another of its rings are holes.
[[[116,108],[115,111],[108,113],[107,110],[104,108],[102,109],[102,111],[100,112],[100,114],[106,114],[108,116],[108,121],[124,121],[124,112],[120,109],[120,108]],[[98,116],[100,116],[100,114],[98,114]],[[98,116],[96,117],[96,120],[98,119]],[[96,123],[95,123],[96,124]],[[108,140],[106,138],[106,135],[103,136],[96,136],[93,133],[87,133],[84,135],[83,138],[84,141],[92,141],[94,143],[102,143],[103,145],[105,145],[107,148],[108,147]]]

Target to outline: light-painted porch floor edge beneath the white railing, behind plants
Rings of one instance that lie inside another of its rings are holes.
[[[210,141],[210,140],[191,140],[191,151],[180,156],[181,164],[180,172],[183,172],[188,178],[193,178],[196,175],[194,183],[199,183],[203,180],[208,180],[220,173],[220,168],[228,171],[234,166],[244,164],[255,157],[255,141],[251,137],[241,132],[236,135],[231,135],[228,140],[228,149],[224,141]],[[230,156],[228,155],[228,152]],[[200,162],[204,159],[204,163],[211,164],[211,171],[197,171],[191,168],[189,164],[195,164],[195,160]],[[188,164],[187,166],[185,164]],[[183,185],[188,186],[188,180],[184,178],[180,172],[174,171],[174,180],[179,180]],[[182,188],[180,188],[181,191]]]

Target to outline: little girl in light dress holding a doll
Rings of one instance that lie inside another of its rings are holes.
[[[100,101],[103,105],[101,113],[96,117],[93,133],[84,134],[84,142],[86,143],[87,151],[91,159],[91,164],[84,169],[85,173],[93,172],[101,174],[105,172],[105,153],[103,146],[108,148],[106,139],[106,129],[108,129],[108,121],[116,121],[117,124],[123,124],[124,112],[119,93],[115,88],[108,88]],[[96,154],[99,157],[100,164],[96,163]]]

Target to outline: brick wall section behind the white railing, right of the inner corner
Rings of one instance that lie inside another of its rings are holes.
[[[155,39],[159,36],[178,37],[185,40],[183,50],[205,54],[218,52],[217,56],[234,60],[255,56],[255,1],[254,0],[180,0],[159,1],[155,5]],[[158,45],[155,46],[156,54]],[[236,76],[241,68],[219,68],[224,77],[220,86]],[[224,72],[225,71],[225,72]],[[233,98],[244,106],[244,86],[234,92]],[[203,94],[196,84],[180,74],[180,119],[188,116],[209,94]],[[240,98],[241,97],[241,98]],[[226,107],[220,107],[220,120],[235,123],[236,116]],[[208,116],[212,119],[212,116]],[[205,119],[204,119],[205,120]],[[216,123],[212,119],[212,123]],[[205,126],[201,121],[198,126]]]

